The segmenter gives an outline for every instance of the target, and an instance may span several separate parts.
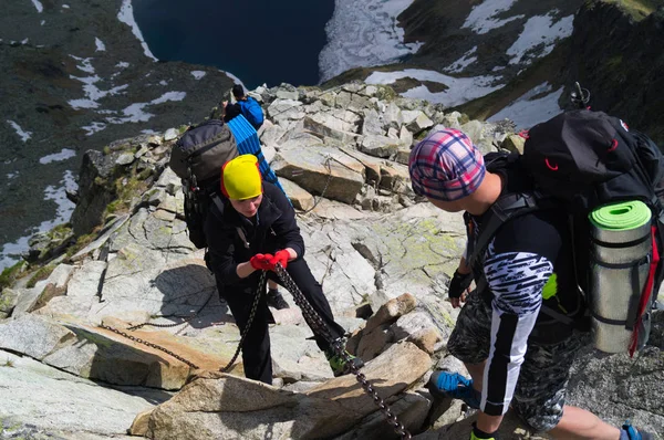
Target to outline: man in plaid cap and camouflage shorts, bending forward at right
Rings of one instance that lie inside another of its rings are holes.
[[[502,156],[505,157],[505,156]],[[560,439],[652,439],[629,423],[622,429],[592,412],[566,405],[566,386],[582,337],[573,324],[552,319],[553,310],[570,322],[583,316],[575,285],[571,234],[564,212],[540,210],[505,221],[481,251],[473,252],[491,206],[502,196],[531,189],[518,159],[487,170],[481,153],[464,133],[429,134],[411,151],[413,190],[449,212],[466,211],[473,265],[461,258],[448,285],[461,308],[447,342],[471,378],[435,371],[434,396],[464,400],[478,409],[470,440],[498,438],[508,408],[535,431]],[[471,282],[477,287],[467,296]],[[546,289],[544,289],[546,286]]]

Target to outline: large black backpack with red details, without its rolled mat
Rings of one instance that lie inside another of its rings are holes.
[[[630,305],[624,323],[625,328],[633,332],[630,354],[643,347],[650,333],[650,312],[664,277],[664,264],[658,261],[664,251],[664,209],[661,201],[664,196],[664,157],[658,147],[644,134],[630,130],[616,117],[578,109],[532,127],[522,156],[489,154],[486,164],[489,171],[519,166],[530,176],[531,186],[521,193],[502,196],[494,203],[469,252],[471,264],[484,255],[505,222],[539,209],[557,207],[569,213],[577,280],[581,290],[587,292],[592,258],[588,214],[600,206],[626,200],[642,201],[651,209],[654,243],[651,274],[640,301]],[[542,312],[550,314],[550,311]],[[566,321],[564,316],[553,317]]]

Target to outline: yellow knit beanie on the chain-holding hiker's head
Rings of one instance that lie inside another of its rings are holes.
[[[238,156],[221,167],[221,191],[234,200],[252,199],[262,193],[258,158],[253,155]]]

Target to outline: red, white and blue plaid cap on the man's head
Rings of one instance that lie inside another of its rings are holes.
[[[443,201],[470,196],[486,175],[479,149],[453,128],[434,132],[417,144],[411,151],[408,170],[416,195]]]

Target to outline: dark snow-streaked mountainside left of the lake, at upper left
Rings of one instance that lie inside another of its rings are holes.
[[[232,85],[217,69],[156,62],[132,20],[123,0],[2,4],[0,243],[55,217],[44,190],[85,150],[197,122]],[[65,160],[41,160],[63,150]]]

